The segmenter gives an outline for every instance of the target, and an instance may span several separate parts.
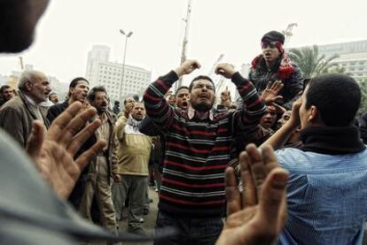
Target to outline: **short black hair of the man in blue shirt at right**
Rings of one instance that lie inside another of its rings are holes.
[[[306,109],[315,105],[326,126],[349,126],[361,103],[361,89],[344,74],[327,74],[308,83]]]

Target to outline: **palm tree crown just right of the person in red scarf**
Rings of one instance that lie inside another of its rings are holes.
[[[339,57],[339,55],[332,55],[331,57],[320,56],[317,45],[301,49],[290,49],[288,56],[298,65],[305,78],[328,73],[330,68],[338,66],[338,64],[332,63],[332,60]]]

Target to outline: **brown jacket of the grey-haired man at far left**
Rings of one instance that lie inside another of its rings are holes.
[[[30,110],[30,104],[22,92],[19,96],[13,97],[4,103],[0,109],[0,127],[2,127],[20,146],[26,148],[27,139],[32,132],[32,123],[37,119]],[[49,126],[49,121],[43,117],[45,126]]]

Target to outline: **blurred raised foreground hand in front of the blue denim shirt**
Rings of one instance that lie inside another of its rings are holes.
[[[254,144],[239,157],[242,194],[233,168],[226,170],[227,221],[216,244],[272,244],[285,226],[288,172],[278,167],[273,149]]]

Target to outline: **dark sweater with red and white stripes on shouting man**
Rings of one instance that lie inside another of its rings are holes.
[[[213,120],[189,119],[187,112],[169,106],[164,98],[176,80],[171,71],[144,93],[147,114],[166,134],[159,209],[178,217],[220,217],[233,137],[258,125],[266,108],[254,85],[235,73],[232,81],[243,107],[215,114]]]

